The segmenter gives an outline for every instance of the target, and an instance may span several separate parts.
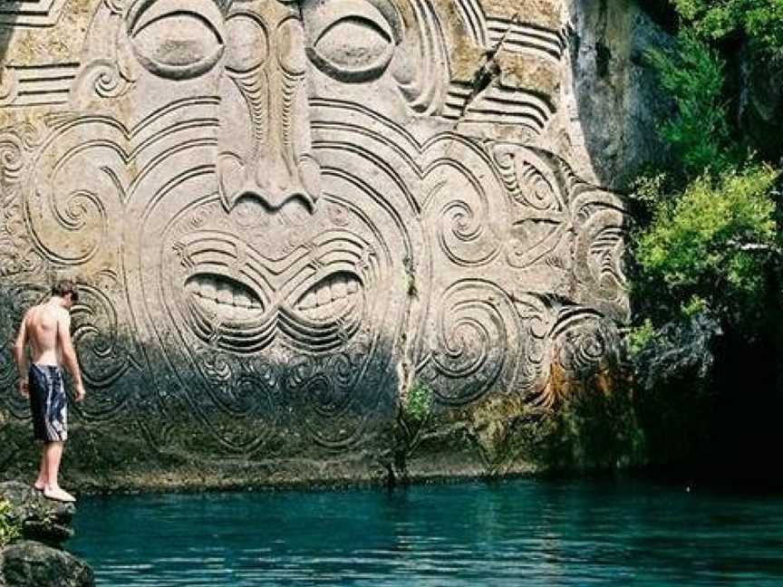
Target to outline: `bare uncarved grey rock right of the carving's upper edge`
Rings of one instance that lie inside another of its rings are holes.
[[[583,173],[601,185],[627,188],[646,165],[668,157],[658,126],[674,106],[644,53],[671,46],[672,37],[635,0],[569,5],[575,118],[587,153]]]

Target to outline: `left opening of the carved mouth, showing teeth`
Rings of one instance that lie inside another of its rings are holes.
[[[264,313],[264,304],[247,285],[225,275],[192,275],[185,291],[202,311],[223,320],[255,321]]]

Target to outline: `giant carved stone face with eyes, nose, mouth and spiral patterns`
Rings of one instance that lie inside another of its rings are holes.
[[[559,32],[455,6],[100,5],[24,210],[43,257],[111,282],[164,410],[239,450],[302,420],[341,446],[414,376],[537,401],[553,300],[627,309],[622,207],[520,144],[556,100],[452,71],[468,41],[557,63]]]

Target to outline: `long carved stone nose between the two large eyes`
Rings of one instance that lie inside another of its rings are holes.
[[[321,194],[321,168],[311,153],[304,29],[288,8],[273,3],[266,10],[259,16],[274,42],[267,58],[228,55],[232,66],[224,74],[220,197],[227,211],[240,197],[256,197],[271,209],[298,197],[313,211]]]

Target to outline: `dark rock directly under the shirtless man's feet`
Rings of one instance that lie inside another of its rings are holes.
[[[41,492],[18,481],[0,483],[0,499],[12,505],[24,538],[57,545],[73,536],[73,504],[46,499]]]

